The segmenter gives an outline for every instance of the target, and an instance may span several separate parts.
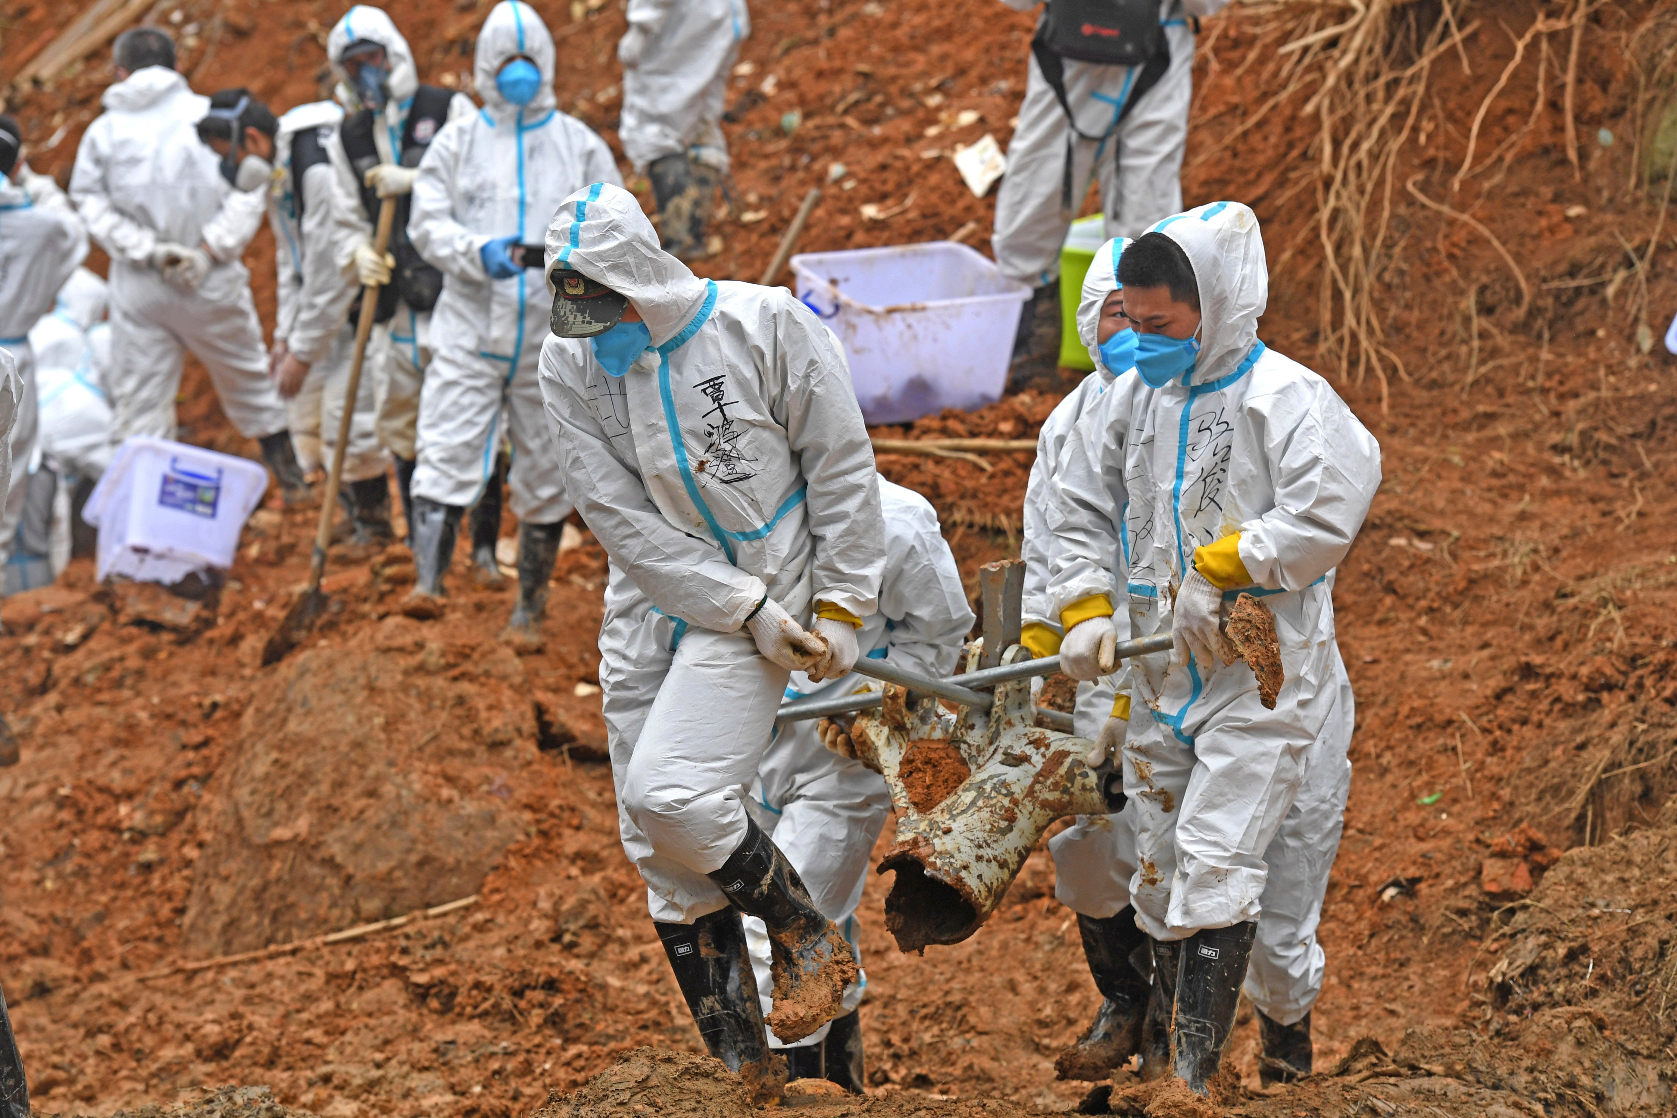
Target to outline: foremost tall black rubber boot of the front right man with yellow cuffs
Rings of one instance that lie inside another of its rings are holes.
[[[1176,972],[1176,1024],[1171,1051],[1176,1074],[1194,1095],[1209,1095],[1223,1064],[1223,1046],[1234,1031],[1241,982],[1251,960],[1258,922],[1206,929],[1182,940]]]

